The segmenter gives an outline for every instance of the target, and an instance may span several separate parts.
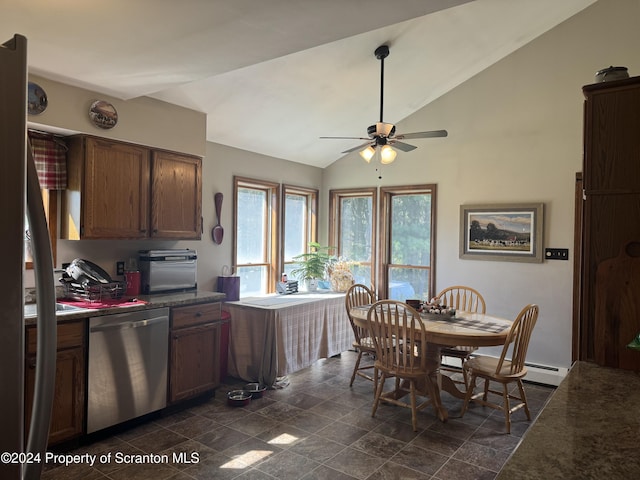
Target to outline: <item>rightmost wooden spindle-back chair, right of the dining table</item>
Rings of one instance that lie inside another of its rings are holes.
[[[477,355],[464,364],[469,376],[469,384],[460,416],[465,414],[469,407],[469,402],[473,401],[487,407],[502,410],[505,415],[507,433],[511,432],[511,414],[519,408],[524,408],[527,419],[531,420],[531,412],[529,412],[529,406],[527,405],[522,379],[527,374],[524,362],[531,333],[537,319],[538,306],[535,304],[527,305],[520,311],[511,325],[500,358]],[[474,394],[478,378],[484,379],[484,389],[482,392]],[[502,384],[502,390],[492,390],[490,382]],[[519,396],[515,393],[509,393],[508,387],[514,382],[518,385]],[[502,403],[489,401],[489,394],[502,397]],[[518,403],[511,406],[510,400],[517,400]]]

